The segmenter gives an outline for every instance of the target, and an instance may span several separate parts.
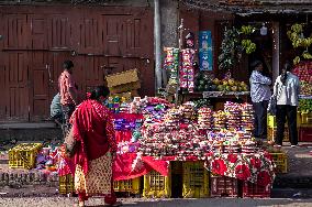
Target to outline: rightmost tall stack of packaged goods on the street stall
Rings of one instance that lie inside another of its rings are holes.
[[[253,133],[254,130],[254,109],[253,105],[249,105],[247,102],[241,105],[242,110],[242,122],[241,122],[241,129],[243,131]]]

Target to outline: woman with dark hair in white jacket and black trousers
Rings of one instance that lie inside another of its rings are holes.
[[[298,145],[297,107],[299,103],[300,83],[299,78],[291,73],[291,64],[287,62],[274,86],[274,94],[277,96],[277,135],[275,142],[279,148],[282,145],[286,118],[291,146]]]

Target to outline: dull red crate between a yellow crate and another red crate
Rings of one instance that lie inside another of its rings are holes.
[[[211,197],[238,197],[238,182],[236,178],[211,175]]]

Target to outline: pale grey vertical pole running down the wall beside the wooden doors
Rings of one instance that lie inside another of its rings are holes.
[[[161,40],[160,40],[160,12],[159,0],[154,0],[154,48],[155,48],[155,75],[156,90],[163,86],[161,76]]]

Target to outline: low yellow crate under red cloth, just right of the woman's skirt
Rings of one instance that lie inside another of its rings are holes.
[[[114,185],[114,192],[140,194],[140,177],[133,179],[125,179],[125,181],[115,181],[113,185]]]

